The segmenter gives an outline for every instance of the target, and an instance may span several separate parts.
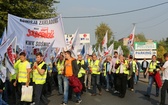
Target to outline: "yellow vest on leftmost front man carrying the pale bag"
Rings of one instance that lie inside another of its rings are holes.
[[[18,82],[26,83],[27,82],[27,65],[28,61],[20,62],[18,65]]]

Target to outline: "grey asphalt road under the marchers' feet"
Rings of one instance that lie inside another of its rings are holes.
[[[139,82],[135,85],[134,92],[127,90],[125,98],[119,98],[103,90],[102,96],[91,96],[89,92],[82,95],[82,103],[80,105],[159,105],[160,96],[155,97],[155,86],[152,88],[152,95],[150,98],[144,96],[147,89],[147,83]],[[48,98],[49,105],[60,105],[63,96],[58,96],[57,91],[53,90],[52,95]],[[168,98],[166,98],[168,99]],[[68,102],[68,105],[75,105],[75,98]],[[166,100],[168,104],[168,100]]]

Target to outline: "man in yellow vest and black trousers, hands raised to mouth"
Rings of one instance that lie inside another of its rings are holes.
[[[36,62],[33,64],[33,82],[35,86],[35,105],[40,105],[42,99],[44,103],[48,103],[43,95],[43,86],[47,78],[47,64],[43,61],[41,52],[36,53]]]

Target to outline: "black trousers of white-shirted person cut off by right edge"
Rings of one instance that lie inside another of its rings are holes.
[[[165,80],[161,89],[161,104],[165,105],[166,91],[168,90],[168,80]]]

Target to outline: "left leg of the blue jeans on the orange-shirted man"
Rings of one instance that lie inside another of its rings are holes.
[[[68,77],[64,77],[64,102],[68,103],[68,92],[69,92],[69,80]]]

